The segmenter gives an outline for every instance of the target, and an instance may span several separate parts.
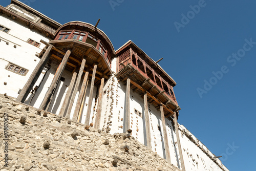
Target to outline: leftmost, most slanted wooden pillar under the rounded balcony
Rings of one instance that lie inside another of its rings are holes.
[[[22,91],[19,93],[16,101],[24,103],[27,96],[29,95],[30,91],[33,89],[35,82],[37,81],[38,77],[40,76],[42,70],[44,69],[46,63],[51,57],[51,50],[53,46],[49,46],[42,56],[41,60],[38,62],[37,66],[35,67],[34,71],[30,75],[28,81],[26,82],[25,86],[23,87]]]

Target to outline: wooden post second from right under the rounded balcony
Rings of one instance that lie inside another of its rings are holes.
[[[98,66],[98,63],[95,64],[93,67],[93,75],[92,75],[92,81],[91,81],[91,89],[90,89],[90,95],[89,95],[89,101],[88,101],[88,108],[87,108],[87,113],[86,113],[86,121],[84,122],[85,125],[90,124],[90,115],[91,115],[92,102],[93,102],[94,80],[95,80],[97,66]]]

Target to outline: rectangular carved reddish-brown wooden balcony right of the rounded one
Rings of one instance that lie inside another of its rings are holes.
[[[126,81],[130,77],[133,84],[131,89],[138,92],[142,97],[143,93],[147,92],[148,102],[157,109],[159,109],[160,103],[166,105],[167,108],[164,108],[165,115],[179,108],[173,86],[137,55],[132,48],[118,57],[117,77],[119,81]]]

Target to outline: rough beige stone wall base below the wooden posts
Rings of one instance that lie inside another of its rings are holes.
[[[180,170],[129,134],[97,131],[4,95],[0,122],[0,170]]]

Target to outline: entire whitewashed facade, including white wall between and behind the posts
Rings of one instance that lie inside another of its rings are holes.
[[[19,95],[18,93],[24,88],[32,72],[38,65],[38,62],[41,60],[41,52],[46,47],[41,40],[49,42],[54,39],[54,35],[55,40],[57,40],[54,31],[56,31],[58,27],[61,27],[61,25],[16,0],[12,1],[11,5],[8,7],[9,9],[2,6],[0,7],[0,28],[3,29],[0,29],[0,93],[6,93],[8,96],[17,98]],[[12,10],[10,10],[11,8]],[[6,11],[3,12],[3,10]],[[8,14],[8,10],[10,15]],[[24,19],[21,20],[14,15],[12,13],[13,10],[16,10],[16,14]],[[26,13],[26,11],[28,13]],[[28,19],[26,23],[26,16],[28,17],[28,15],[30,16],[30,19]],[[44,20],[46,18],[48,22],[51,23],[51,27],[49,26],[49,28],[47,28],[44,26],[42,27],[46,28],[46,30],[44,30],[41,29],[41,26],[47,24],[42,23],[41,19]],[[34,25],[31,24],[31,22],[34,23]],[[52,28],[53,26],[56,28]],[[4,29],[7,29],[8,31],[5,31]],[[101,33],[104,34],[103,32]],[[104,36],[106,37],[106,35]],[[30,39],[34,41],[32,44]],[[39,43],[40,45],[35,46],[35,43]],[[106,59],[108,61],[108,58]],[[126,131],[123,127],[125,122],[126,82],[120,80],[116,76],[118,71],[118,57],[112,56],[111,60],[111,74],[108,79],[104,80],[102,94],[103,102],[99,127],[102,131],[114,134]],[[11,65],[13,67],[11,67]],[[70,65],[72,66],[72,63]],[[35,90],[32,89],[30,91],[24,103],[34,106],[35,108],[39,108],[42,99],[44,99],[47,94],[48,88],[51,86],[58,66],[58,61],[49,60],[47,65],[39,74],[37,81],[34,83],[33,89]],[[16,67],[17,70],[14,71]],[[24,69],[24,73],[22,69]],[[55,88],[49,104],[48,112],[57,115],[59,114],[62,103],[65,100],[66,93],[69,89],[73,72],[68,69],[63,70],[61,74],[62,78],[58,81]],[[80,93],[81,85],[82,81],[80,82],[75,96],[70,116],[71,119],[73,118],[73,112],[75,110],[75,104]],[[86,121],[90,87],[91,78],[89,79],[87,90],[84,95],[84,105],[80,119],[81,123]],[[99,85],[95,85],[92,94],[93,99],[90,123],[95,123],[97,118],[99,92]],[[139,142],[147,145],[144,100],[139,93],[133,90],[131,90],[130,93],[130,112],[132,136],[134,136]],[[159,109],[155,108],[151,103],[148,103],[148,113],[152,151],[156,152],[161,157],[166,158],[161,113]],[[178,151],[177,136],[174,129],[173,118],[170,116],[165,118],[165,123],[171,163],[181,168],[181,159]],[[179,125],[179,137],[186,170],[228,170],[221,161],[218,158],[214,158],[216,156],[212,154],[193,134],[186,130],[183,125]]]

